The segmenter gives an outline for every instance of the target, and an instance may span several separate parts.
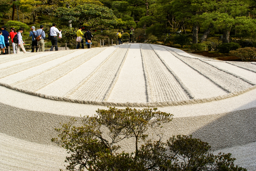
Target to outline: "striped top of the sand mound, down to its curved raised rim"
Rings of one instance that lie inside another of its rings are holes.
[[[0,58],[0,84],[43,98],[155,107],[201,103],[255,88],[256,63],[193,57],[151,44]]]

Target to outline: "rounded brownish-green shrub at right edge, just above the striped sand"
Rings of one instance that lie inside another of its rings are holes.
[[[256,48],[254,47],[239,48],[238,50],[231,51],[230,54],[246,62],[252,61],[256,59]]]

